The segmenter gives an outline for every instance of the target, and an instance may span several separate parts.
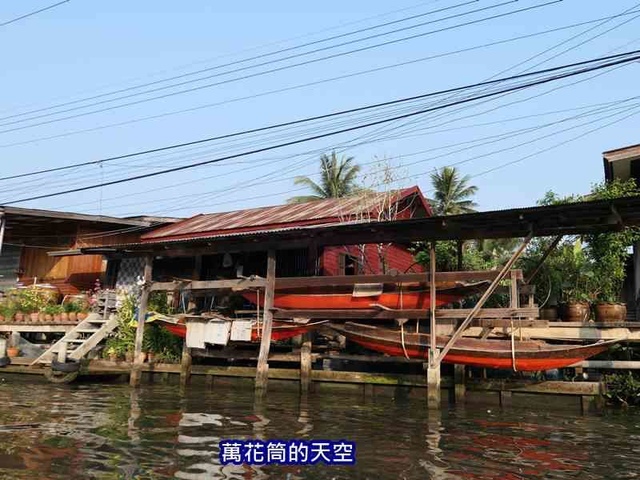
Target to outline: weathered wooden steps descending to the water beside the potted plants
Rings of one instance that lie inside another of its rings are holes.
[[[79,361],[104,340],[118,326],[118,317],[113,312],[115,295],[107,293],[98,299],[98,305],[102,313],[90,313],[87,318],[36,358],[31,366],[51,363],[54,355],[60,355],[61,352],[64,359]]]

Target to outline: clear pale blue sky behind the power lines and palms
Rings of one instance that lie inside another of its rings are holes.
[[[2,178],[640,49],[640,2],[627,0],[70,0],[5,24],[53,3],[0,3]],[[306,193],[294,177],[317,178],[333,150],[367,186],[388,165],[394,186],[429,196],[430,174],[454,165],[479,209],[533,205],[548,190],[588,191],[603,151],[640,143],[639,73],[631,63],[252,155],[241,154],[406,110],[0,180],[0,205],[175,217],[274,205]]]

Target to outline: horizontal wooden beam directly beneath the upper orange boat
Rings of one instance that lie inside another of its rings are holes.
[[[436,310],[436,318],[463,319],[471,312],[470,308],[444,308]],[[527,308],[481,308],[475,318],[537,318],[540,310],[537,307]],[[424,319],[430,312],[423,309],[406,310],[281,310],[275,309],[275,319],[309,318],[323,320],[393,320],[396,318]]]

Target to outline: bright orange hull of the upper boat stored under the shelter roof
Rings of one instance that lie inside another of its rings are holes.
[[[478,293],[484,282],[446,289],[438,289],[436,306],[442,307]],[[242,296],[254,305],[259,301],[254,291],[242,292]],[[393,310],[429,309],[431,295],[429,289],[382,292],[379,295],[354,296],[352,292],[305,292],[276,291],[273,301],[275,308],[288,310],[367,310],[372,305],[380,305]]]

